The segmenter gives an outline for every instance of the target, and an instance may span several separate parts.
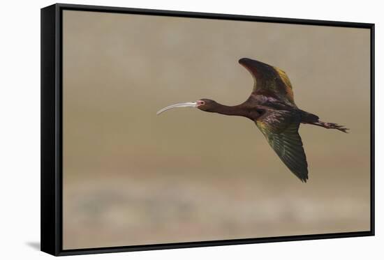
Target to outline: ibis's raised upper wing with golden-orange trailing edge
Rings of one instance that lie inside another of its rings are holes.
[[[296,107],[292,84],[283,70],[253,59],[239,59],[253,77],[254,95],[265,95]]]

